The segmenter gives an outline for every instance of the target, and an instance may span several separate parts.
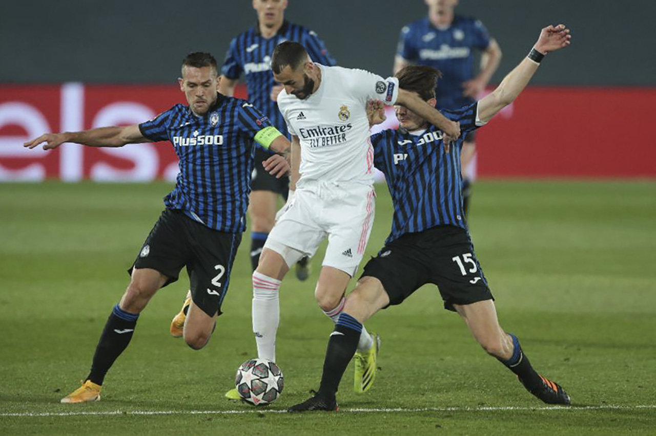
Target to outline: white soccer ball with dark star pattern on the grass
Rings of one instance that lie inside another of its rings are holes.
[[[256,406],[276,401],[285,387],[283,372],[268,359],[250,359],[237,369],[235,386],[241,398]]]

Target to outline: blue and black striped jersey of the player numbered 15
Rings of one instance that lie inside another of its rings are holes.
[[[383,130],[371,136],[374,165],[385,175],[392,194],[392,232],[385,244],[406,233],[438,225],[467,228],[462,211],[460,153],[464,136],[482,125],[476,122],[478,103],[456,110],[440,110],[459,121],[461,136],[445,153],[442,132],[430,126],[420,132]]]

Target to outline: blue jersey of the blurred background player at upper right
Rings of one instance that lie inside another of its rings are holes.
[[[451,26],[435,27],[428,17],[401,29],[396,54],[411,64],[442,72],[436,88],[436,107],[457,109],[474,102],[462,96],[462,82],[474,79],[474,50],[485,50],[490,37],[480,20],[456,15]]]

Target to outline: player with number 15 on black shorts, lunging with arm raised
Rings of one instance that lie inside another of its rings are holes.
[[[462,134],[482,126],[517,98],[544,55],[569,45],[570,38],[562,24],[545,27],[529,56],[494,92],[478,103],[443,113],[460,122]],[[438,75],[432,67],[415,65],[401,69],[396,77],[399,86],[415,90],[434,105]],[[318,393],[289,411],[337,410],[339,382],[356,350],[362,323],[390,304],[401,304],[426,283],[438,285],[445,308],[457,311],[483,349],[514,372],[529,392],[545,403],[569,404],[567,393],[535,372],[518,338],[499,325],[494,299],[462,219],[462,139],[447,151],[442,133],[422,117],[403,107],[396,107],[396,114],[401,123],[398,130],[371,137],[375,164],[392,194],[392,232],[346,298],[329,338]],[[379,122],[384,119],[380,103],[375,115]]]

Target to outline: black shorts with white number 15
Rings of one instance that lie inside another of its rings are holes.
[[[390,305],[401,304],[426,283],[438,286],[447,310],[494,299],[467,230],[454,226],[404,234],[367,262],[361,277],[380,280]]]

